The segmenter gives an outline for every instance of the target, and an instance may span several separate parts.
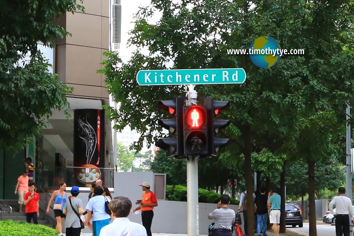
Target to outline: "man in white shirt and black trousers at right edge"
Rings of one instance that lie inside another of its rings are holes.
[[[336,218],[336,236],[349,236],[349,223],[352,221],[354,224],[352,200],[345,194],[346,189],[340,187],[338,196],[334,197],[328,205],[331,214]],[[333,205],[336,205],[336,213],[333,212]]]

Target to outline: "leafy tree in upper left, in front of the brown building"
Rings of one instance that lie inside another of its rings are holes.
[[[58,37],[69,34],[55,20],[76,9],[83,10],[76,0],[1,1],[0,144],[6,148],[23,147],[38,136],[52,109],[69,117],[65,94],[72,90],[47,70],[51,65],[37,45],[53,48]]]

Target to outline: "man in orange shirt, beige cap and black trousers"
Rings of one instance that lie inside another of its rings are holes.
[[[140,184],[143,191],[143,195],[141,196],[141,200],[138,200],[135,204],[140,204],[139,207],[135,208],[133,212],[141,209],[141,220],[143,221],[143,226],[146,229],[147,235],[152,236],[151,234],[151,224],[154,217],[154,207],[157,207],[156,195],[150,191],[150,184],[148,182],[144,182]]]

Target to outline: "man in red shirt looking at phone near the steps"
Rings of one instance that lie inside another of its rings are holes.
[[[29,182],[28,189],[29,191],[23,196],[23,204],[26,206],[26,221],[31,223],[31,219],[33,219],[33,223],[38,224],[39,194],[34,191],[35,183]]]

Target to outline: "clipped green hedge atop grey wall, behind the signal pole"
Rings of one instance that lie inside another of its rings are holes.
[[[198,189],[198,201],[204,203],[218,203],[221,195],[205,189]],[[187,187],[183,185],[166,185],[166,200],[187,202]],[[230,204],[239,205],[240,201],[230,198]]]

